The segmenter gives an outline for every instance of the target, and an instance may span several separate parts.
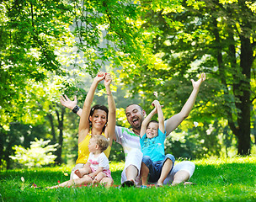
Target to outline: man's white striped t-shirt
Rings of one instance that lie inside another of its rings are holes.
[[[140,136],[137,136],[132,130],[121,126],[115,126],[116,142],[123,146],[125,151],[125,160],[131,149],[141,150]]]

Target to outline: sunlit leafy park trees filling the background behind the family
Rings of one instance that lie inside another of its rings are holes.
[[[73,165],[79,118],[97,72],[111,72],[117,125],[127,104],[179,113],[205,72],[195,106],[168,136],[177,159],[256,153],[256,4],[204,1],[1,1],[1,170]],[[99,86],[94,104],[107,104]],[[109,160],[124,160],[114,143]]]

